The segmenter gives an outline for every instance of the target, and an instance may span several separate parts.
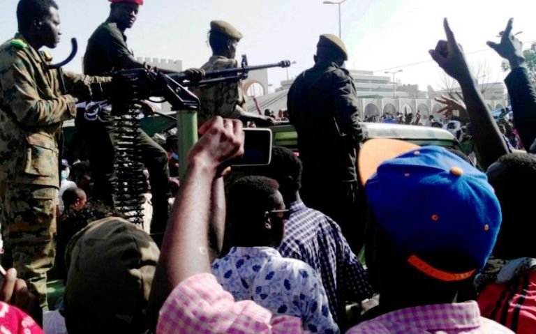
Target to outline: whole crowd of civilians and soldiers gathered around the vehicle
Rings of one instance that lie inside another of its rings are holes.
[[[447,20],[429,51],[459,82],[463,100],[440,100],[470,123],[456,137],[470,137],[478,166],[440,146],[362,142],[348,51],[324,34],[288,94],[299,158],[276,146],[269,165],[230,167],[244,155],[244,123],[274,123],[242,109],[236,83],[195,90],[203,121],[180,184],[169,182],[177,136],[163,149],[133,135],[149,169],[149,234],[114,208],[112,110],[91,123],[75,108],[110,70],[147,68],[124,36],[143,0],[110,2],[86,74],[64,73],[68,94],[40,51],[58,42],[53,0],[20,0],[18,33],[0,46],[2,333],[536,333],[533,201],[519,191],[536,185],[536,92],[512,19],[488,43],[511,68],[512,120],[493,118]],[[214,54],[186,70],[191,80],[237,66],[241,33],[223,21],[210,29]],[[89,161],[70,165],[58,134],[72,118],[96,139]],[[57,305],[47,305],[52,266],[65,287]]]

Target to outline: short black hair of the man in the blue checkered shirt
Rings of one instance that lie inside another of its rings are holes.
[[[276,180],[281,185],[281,188],[285,187],[285,185],[290,185],[295,188],[294,190],[299,190],[301,188],[301,172],[303,169],[301,161],[294,152],[285,147],[274,146],[271,149],[270,164],[257,167],[255,174]],[[292,184],[289,183],[288,176],[292,178]]]

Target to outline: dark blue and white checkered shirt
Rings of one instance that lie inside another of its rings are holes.
[[[283,257],[304,261],[320,273],[335,321],[345,319],[346,301],[362,301],[373,294],[366,271],[350,250],[341,227],[301,199],[290,204],[290,218],[278,250]]]

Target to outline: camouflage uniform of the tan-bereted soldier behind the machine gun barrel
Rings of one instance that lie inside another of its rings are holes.
[[[223,70],[236,68],[238,62],[224,56],[211,56],[201,68],[203,70]],[[241,82],[222,82],[214,86],[195,87],[191,90],[201,101],[198,112],[198,126],[214,116],[237,119],[240,109],[246,106],[246,97],[240,88]]]

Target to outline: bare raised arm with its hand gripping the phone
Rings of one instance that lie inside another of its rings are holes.
[[[193,275],[211,273],[208,231],[214,177],[222,164],[244,154],[244,131],[238,120],[216,117],[204,123],[200,133],[204,135],[188,153],[186,176],[163,238],[149,298],[153,326],[158,310],[177,284]]]

